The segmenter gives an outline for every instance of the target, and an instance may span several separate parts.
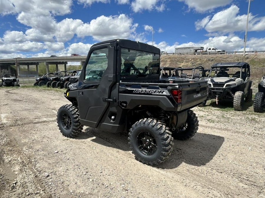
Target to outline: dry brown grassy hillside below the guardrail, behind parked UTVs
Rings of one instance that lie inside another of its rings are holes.
[[[258,91],[258,83],[265,72],[265,53],[247,54],[227,54],[227,55],[162,55],[160,57],[161,67],[196,67],[202,65],[210,68],[217,62],[247,62],[250,65],[250,79],[253,81],[253,93]]]

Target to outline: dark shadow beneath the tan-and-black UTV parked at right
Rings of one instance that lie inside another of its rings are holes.
[[[232,111],[233,108],[233,101],[230,100],[220,100],[218,101],[218,104],[216,104],[216,100],[212,99],[209,104],[206,104],[206,106],[211,106],[213,108],[219,108],[223,110]],[[243,111],[249,109],[251,106],[253,106],[252,102],[243,102]]]

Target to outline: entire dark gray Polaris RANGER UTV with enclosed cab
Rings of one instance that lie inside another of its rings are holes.
[[[83,126],[128,132],[135,158],[148,165],[165,161],[173,138],[186,140],[198,130],[191,108],[207,98],[207,81],[163,83],[160,50],[146,43],[115,39],[93,45],[77,83],[57,112],[66,137]],[[144,69],[143,69],[144,68]]]

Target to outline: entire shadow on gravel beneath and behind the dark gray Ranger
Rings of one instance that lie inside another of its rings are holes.
[[[110,133],[94,128],[86,128],[85,132],[75,137],[75,139],[88,138],[93,138],[91,141],[103,146],[130,151],[127,133]],[[193,138],[187,141],[173,140],[174,146],[171,155],[168,160],[157,167],[173,169],[183,162],[193,166],[206,165],[216,155],[223,142],[223,137],[206,133],[196,133]]]

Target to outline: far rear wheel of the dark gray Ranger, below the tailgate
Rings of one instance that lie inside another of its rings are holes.
[[[172,136],[176,140],[188,140],[198,131],[198,126],[198,117],[189,109],[185,124],[178,128],[178,132],[172,133]]]

